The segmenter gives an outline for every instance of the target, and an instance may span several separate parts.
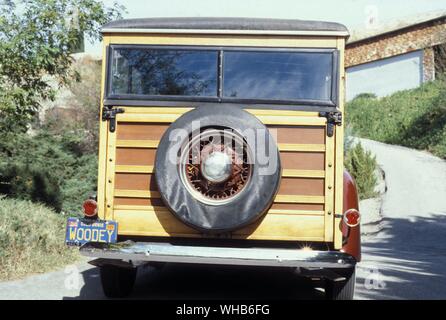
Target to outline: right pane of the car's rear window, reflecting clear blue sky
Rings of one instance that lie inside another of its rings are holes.
[[[331,99],[331,53],[225,52],[223,65],[224,97]]]

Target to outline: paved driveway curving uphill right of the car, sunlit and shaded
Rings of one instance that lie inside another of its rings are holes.
[[[388,189],[383,230],[363,246],[357,298],[446,299],[446,162],[404,147],[362,144],[376,154]]]

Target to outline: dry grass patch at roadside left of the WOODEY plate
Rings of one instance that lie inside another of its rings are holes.
[[[65,218],[41,204],[0,198],[0,280],[43,273],[75,262],[64,244]]]

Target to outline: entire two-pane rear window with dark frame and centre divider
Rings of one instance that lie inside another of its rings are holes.
[[[107,97],[335,105],[336,50],[112,45]]]

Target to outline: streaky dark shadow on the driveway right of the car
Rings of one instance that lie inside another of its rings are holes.
[[[379,236],[363,243],[363,253],[361,298],[446,298],[445,213],[387,218]]]

